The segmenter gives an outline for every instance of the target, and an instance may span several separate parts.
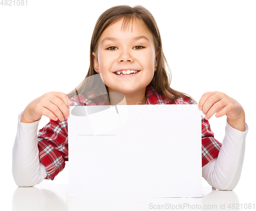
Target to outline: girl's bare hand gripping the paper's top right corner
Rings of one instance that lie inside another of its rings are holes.
[[[198,108],[205,114],[208,120],[212,115],[222,117],[227,116],[230,126],[235,129],[245,131],[245,113],[242,105],[235,99],[222,92],[206,92],[198,103]]]

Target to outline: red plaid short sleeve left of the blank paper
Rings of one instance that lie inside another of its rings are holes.
[[[47,179],[54,177],[65,168],[68,161],[68,124],[64,121],[50,122],[38,132],[39,160],[45,166]]]

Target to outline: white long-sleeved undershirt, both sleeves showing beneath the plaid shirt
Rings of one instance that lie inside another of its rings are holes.
[[[19,114],[19,119],[22,113]],[[46,178],[45,167],[39,163],[37,147],[38,122],[22,123],[18,120],[17,135],[13,146],[12,172],[19,187],[30,187]],[[233,190],[239,181],[244,153],[245,137],[241,132],[226,125],[226,134],[217,159],[202,168],[203,177],[219,190]]]

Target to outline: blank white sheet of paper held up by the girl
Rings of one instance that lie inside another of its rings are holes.
[[[197,105],[94,105],[80,107],[83,116],[73,109],[69,197],[202,197]]]

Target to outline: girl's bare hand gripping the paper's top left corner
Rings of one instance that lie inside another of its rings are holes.
[[[64,121],[69,117],[69,98],[62,92],[48,92],[33,101],[25,108],[20,122],[32,123],[42,115],[52,120]]]

